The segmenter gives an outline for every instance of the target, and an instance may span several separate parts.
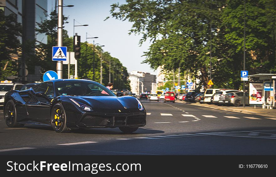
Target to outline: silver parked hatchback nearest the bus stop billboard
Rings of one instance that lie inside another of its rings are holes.
[[[226,105],[234,105],[235,107],[239,107],[243,104],[243,92],[229,92],[225,95],[223,102]],[[249,104],[249,97],[247,93],[245,93],[245,104]]]

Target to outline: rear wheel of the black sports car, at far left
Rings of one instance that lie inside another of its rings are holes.
[[[9,100],[6,103],[4,109],[4,119],[8,127],[23,127],[24,124],[17,123],[16,108],[14,106],[13,100]]]

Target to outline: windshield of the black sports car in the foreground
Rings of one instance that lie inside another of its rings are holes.
[[[91,81],[60,81],[55,83],[56,95],[116,96],[105,86]]]

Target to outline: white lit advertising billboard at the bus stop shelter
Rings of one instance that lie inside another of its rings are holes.
[[[250,82],[249,83],[249,104],[262,105],[263,83]]]

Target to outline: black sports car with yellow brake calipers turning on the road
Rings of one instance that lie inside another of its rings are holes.
[[[132,96],[116,96],[95,81],[57,79],[5,95],[9,127],[50,125],[58,132],[74,128],[116,128],[135,132],[146,125],[146,110]]]

